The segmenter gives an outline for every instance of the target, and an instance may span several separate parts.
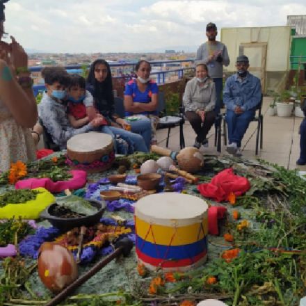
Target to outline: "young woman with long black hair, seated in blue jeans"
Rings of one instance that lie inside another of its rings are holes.
[[[120,138],[129,143],[129,147],[131,147],[130,144],[133,143],[133,147],[136,151],[149,151],[145,140],[147,139],[147,141],[150,141],[151,138],[150,122],[143,122],[137,130],[137,132],[141,134],[139,135],[127,131],[129,124],[115,114],[111,70],[106,61],[97,60],[92,63],[88,74],[86,90],[92,94],[95,100],[95,107],[100,115],[102,115],[102,118],[108,122],[108,125],[102,125],[100,127],[100,131],[111,135],[113,139],[115,139],[117,135],[120,136]],[[88,117],[91,118],[91,116],[95,118],[95,111],[93,111],[92,114],[88,113]],[[130,150],[129,153],[131,153]]]

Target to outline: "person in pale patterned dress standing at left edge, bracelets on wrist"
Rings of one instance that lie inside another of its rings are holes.
[[[4,33],[3,3],[6,2],[8,0],[0,2],[0,40]],[[10,45],[0,42],[0,172],[9,170],[10,163],[36,159],[31,136],[31,127],[37,118],[33,80],[26,52],[12,36],[10,38]]]

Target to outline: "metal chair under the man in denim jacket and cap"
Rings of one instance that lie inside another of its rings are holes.
[[[264,136],[264,115],[261,114],[262,102],[264,99],[264,95],[261,94],[261,99],[259,104],[256,106],[256,111],[258,111],[258,115],[255,115],[252,122],[257,122],[257,135],[256,135],[256,148],[255,155],[258,155],[258,143],[260,140],[260,148],[262,149],[262,142]],[[223,121],[223,131],[224,131],[224,145],[227,145],[227,130],[226,130],[226,122],[225,122],[225,113],[220,113],[218,115],[218,124],[216,126],[215,133],[215,147],[217,146],[217,151],[221,152],[221,124]]]

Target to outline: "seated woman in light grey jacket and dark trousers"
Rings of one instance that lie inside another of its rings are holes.
[[[193,145],[197,149],[208,144],[206,136],[216,120],[215,104],[215,83],[208,75],[207,65],[198,63],[195,77],[186,84],[184,94],[185,115],[197,134]]]

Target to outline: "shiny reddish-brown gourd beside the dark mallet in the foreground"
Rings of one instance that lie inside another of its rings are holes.
[[[50,291],[57,293],[77,280],[77,261],[63,246],[42,243],[38,251],[38,275]]]

